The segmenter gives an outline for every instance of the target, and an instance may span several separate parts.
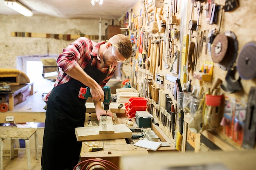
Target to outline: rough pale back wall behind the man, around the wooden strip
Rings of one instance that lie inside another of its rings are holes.
[[[64,19],[48,15],[0,15],[0,68],[17,68],[16,57],[25,55],[55,55],[74,40],[55,38],[14,37],[11,32],[99,35],[99,19]],[[101,35],[105,35],[108,20],[101,20]],[[98,41],[98,40],[95,40]]]

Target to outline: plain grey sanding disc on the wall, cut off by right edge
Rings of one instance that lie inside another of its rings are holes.
[[[256,42],[245,44],[241,50],[238,61],[238,73],[243,79],[253,79],[256,77]]]

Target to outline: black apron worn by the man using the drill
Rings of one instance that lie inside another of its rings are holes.
[[[97,83],[106,78],[107,73],[89,64],[84,71]],[[81,87],[86,87],[76,79],[55,86],[49,95],[43,137],[41,165],[43,170],[73,169],[79,161],[82,142],[78,142],[75,128],[84,127],[85,99],[78,97]]]

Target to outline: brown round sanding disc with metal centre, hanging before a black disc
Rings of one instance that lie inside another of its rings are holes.
[[[231,60],[234,50],[234,41],[224,33],[219,33],[213,40],[211,47],[211,58],[213,62],[227,65]]]

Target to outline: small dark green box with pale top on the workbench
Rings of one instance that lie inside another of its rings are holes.
[[[135,121],[139,128],[150,128],[152,117],[148,111],[136,111]]]

